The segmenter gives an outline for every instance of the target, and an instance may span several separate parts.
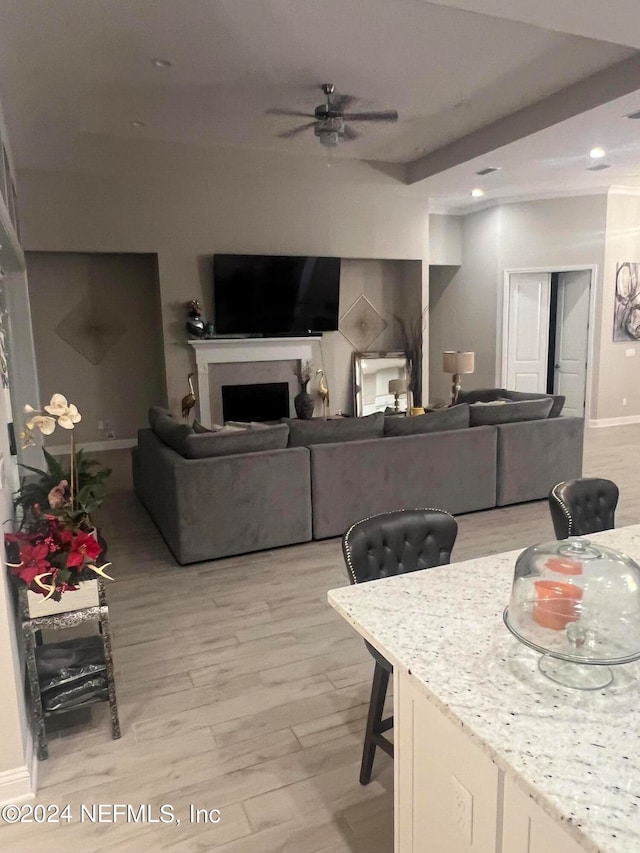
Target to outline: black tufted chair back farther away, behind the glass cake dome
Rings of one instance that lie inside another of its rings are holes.
[[[612,530],[618,495],[615,483],[599,477],[581,477],[558,483],[549,492],[549,509],[556,539]]]

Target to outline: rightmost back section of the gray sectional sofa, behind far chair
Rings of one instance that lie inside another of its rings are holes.
[[[582,418],[560,416],[496,428],[498,506],[546,498],[556,483],[582,476]]]

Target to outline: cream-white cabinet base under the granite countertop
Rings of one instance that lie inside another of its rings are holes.
[[[580,853],[411,675],[394,673],[395,853]]]

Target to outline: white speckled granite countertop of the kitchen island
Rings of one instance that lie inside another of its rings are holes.
[[[640,524],[589,536],[640,563]],[[504,625],[520,551],[332,590],[330,604],[585,850],[640,851],[640,662],[555,685]]]

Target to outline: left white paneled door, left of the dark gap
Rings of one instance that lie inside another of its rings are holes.
[[[547,390],[550,273],[509,276],[507,388]]]

